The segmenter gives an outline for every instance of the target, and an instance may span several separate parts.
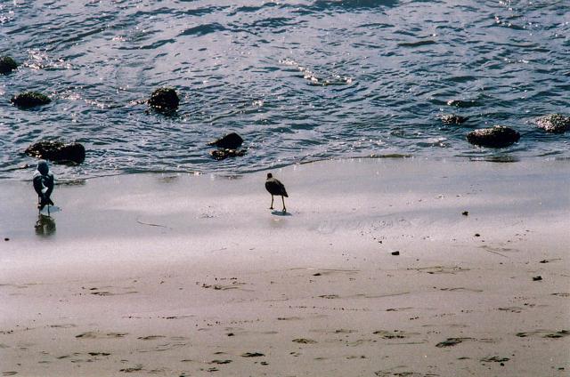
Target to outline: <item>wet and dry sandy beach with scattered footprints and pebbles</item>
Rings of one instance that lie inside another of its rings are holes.
[[[570,161],[272,172],[0,180],[0,375],[570,375]]]

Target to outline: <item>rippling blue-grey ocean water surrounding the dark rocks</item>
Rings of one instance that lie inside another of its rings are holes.
[[[567,158],[570,2],[416,0],[1,1],[0,178],[29,179],[23,151],[77,141],[60,179],[131,172],[254,172],[323,158]],[[160,86],[175,116],[147,112]],[[21,110],[24,91],[50,105]],[[444,125],[438,116],[469,116]],[[476,148],[467,132],[508,125],[521,140]],[[228,132],[247,156],[216,161]]]

